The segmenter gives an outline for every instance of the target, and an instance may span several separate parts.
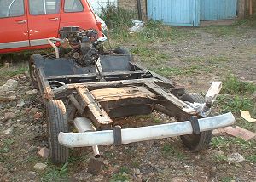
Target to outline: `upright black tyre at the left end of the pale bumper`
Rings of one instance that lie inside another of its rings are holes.
[[[53,163],[65,163],[68,160],[68,148],[58,142],[60,132],[68,132],[67,112],[61,100],[50,100],[46,108],[49,156]]]

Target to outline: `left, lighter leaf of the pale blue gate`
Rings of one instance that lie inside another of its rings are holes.
[[[199,26],[200,0],[148,0],[148,17],[172,26]]]

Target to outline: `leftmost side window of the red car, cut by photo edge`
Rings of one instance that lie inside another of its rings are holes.
[[[24,0],[0,0],[0,18],[24,15]]]

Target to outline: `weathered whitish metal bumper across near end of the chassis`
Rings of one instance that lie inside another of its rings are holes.
[[[235,122],[231,112],[215,117],[206,117],[198,120],[200,131],[230,126]],[[121,130],[122,144],[146,141],[151,139],[164,139],[168,137],[192,134],[191,122],[175,122],[140,128],[125,128]],[[95,131],[86,133],[59,134],[59,143],[66,147],[84,147],[95,145],[113,145],[113,130]]]

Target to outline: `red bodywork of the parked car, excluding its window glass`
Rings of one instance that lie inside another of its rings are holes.
[[[101,25],[96,20],[96,16],[87,1],[80,0],[83,10],[79,12],[65,12],[64,2],[64,0],[60,0],[60,9],[57,13],[35,14],[29,9],[30,5],[36,6],[33,4],[35,1],[24,0],[23,15],[0,18],[0,25],[4,25],[0,26],[0,54],[50,48],[46,38],[58,37],[58,31],[63,26],[96,29],[99,37],[103,37]]]

